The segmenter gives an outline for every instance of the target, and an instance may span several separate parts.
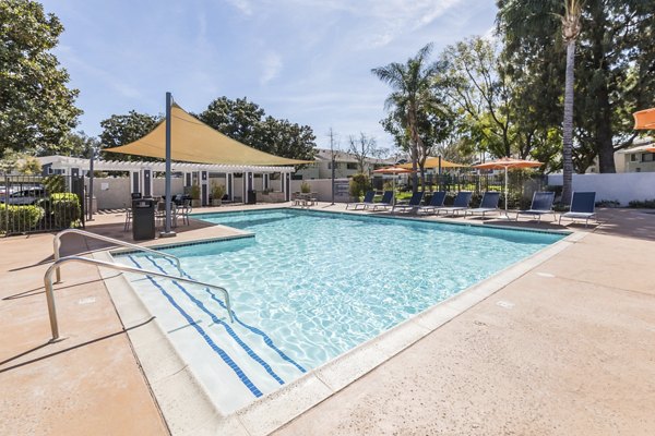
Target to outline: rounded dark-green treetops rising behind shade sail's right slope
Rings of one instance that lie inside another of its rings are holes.
[[[266,116],[246,98],[216,98],[196,117],[233,140],[265,153],[306,160],[315,155],[315,136],[309,125]]]

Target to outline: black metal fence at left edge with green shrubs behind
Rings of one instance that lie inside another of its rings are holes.
[[[0,235],[84,228],[84,179],[0,177]]]

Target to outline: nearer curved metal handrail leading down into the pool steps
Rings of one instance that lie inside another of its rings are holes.
[[[96,266],[104,267],[104,268],[118,269],[121,271],[141,274],[144,276],[162,277],[165,279],[169,279],[169,280],[177,280],[177,281],[181,281],[184,283],[198,284],[198,286],[202,286],[202,287],[206,287],[206,288],[216,289],[216,290],[223,292],[223,295],[225,296],[225,307],[227,308],[227,314],[229,315],[230,323],[235,322],[234,317],[233,317],[233,312],[231,312],[231,304],[229,302],[229,292],[227,292],[227,289],[222,288],[219,286],[210,284],[210,283],[205,283],[205,282],[198,281],[198,280],[187,279],[184,277],[174,277],[174,276],[169,276],[164,272],[150,271],[147,269],[135,268],[135,267],[131,267],[128,265],[114,264],[111,262],[98,261],[98,259],[94,259],[94,258],[90,258],[90,257],[67,256],[67,257],[62,257],[60,259],[55,261],[55,263],[52,265],[50,265],[50,267],[46,270],[46,274],[44,275],[44,284],[46,287],[46,299],[48,301],[48,315],[50,316],[50,329],[52,330],[52,341],[56,341],[59,339],[59,325],[57,323],[57,310],[55,308],[55,293],[53,293],[53,289],[52,289],[52,271],[55,269],[59,269],[59,265],[68,263],[68,262],[81,262],[83,264],[96,265]]]

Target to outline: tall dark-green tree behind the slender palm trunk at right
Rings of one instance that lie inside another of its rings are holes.
[[[560,19],[567,14],[564,3],[498,0],[498,32],[503,35],[504,52],[512,53],[512,77],[527,75],[525,95],[538,96],[541,107],[550,108],[528,116],[549,118],[564,98],[567,47]],[[655,99],[654,9],[654,0],[581,3],[572,141],[572,161],[579,172],[596,156],[600,172],[615,172],[614,153],[636,137],[630,113]],[[561,119],[548,122],[563,133]]]

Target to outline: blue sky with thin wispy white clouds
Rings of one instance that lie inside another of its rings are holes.
[[[493,0],[46,0],[66,32],[55,50],[80,89],[79,129],[112,113],[189,111],[248,97],[267,114],[327,131],[365,132],[390,147],[379,121],[390,89],[370,72],[434,52],[493,26]]]

